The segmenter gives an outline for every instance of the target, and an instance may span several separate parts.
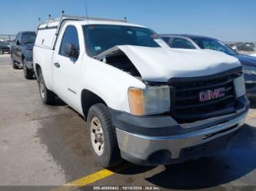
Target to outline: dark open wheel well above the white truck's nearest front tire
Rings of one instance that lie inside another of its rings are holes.
[[[81,92],[81,107],[83,110],[83,114],[85,119],[88,116],[89,109],[92,105],[102,103],[107,106],[104,100],[101,99],[101,97],[98,97],[95,93],[88,91],[88,90],[83,90]]]

